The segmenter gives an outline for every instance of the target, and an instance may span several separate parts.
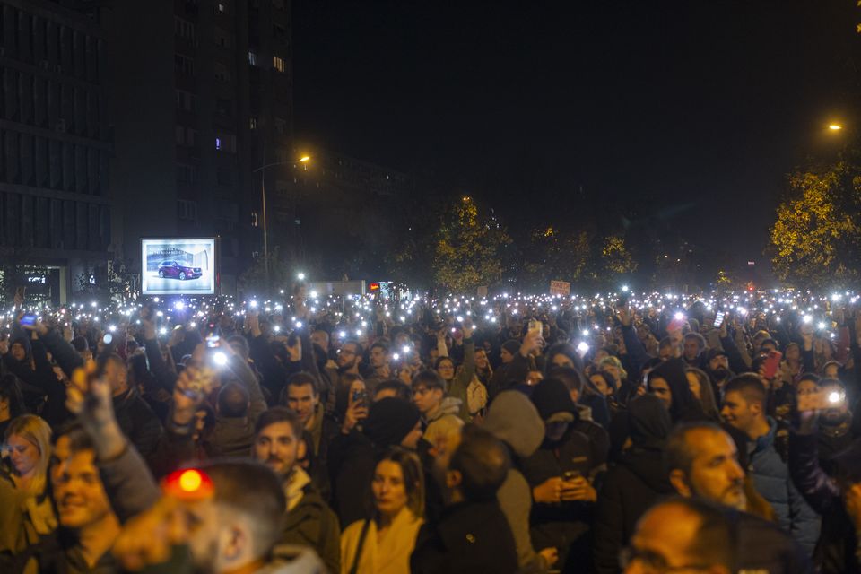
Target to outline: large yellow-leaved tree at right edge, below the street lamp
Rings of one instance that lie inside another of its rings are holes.
[[[771,266],[797,287],[857,279],[861,256],[861,170],[840,160],[789,176],[789,192],[770,230]]]

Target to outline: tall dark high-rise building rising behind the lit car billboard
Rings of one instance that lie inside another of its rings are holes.
[[[106,30],[114,218],[139,239],[220,238],[220,286],[262,249],[261,176],[291,157],[286,0],[89,3]]]

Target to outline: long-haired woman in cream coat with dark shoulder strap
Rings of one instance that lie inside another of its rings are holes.
[[[370,490],[370,519],[353,522],[341,535],[341,574],[409,574],[424,517],[422,463],[404,448],[389,448]]]

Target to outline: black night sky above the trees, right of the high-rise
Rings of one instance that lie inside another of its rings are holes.
[[[693,204],[671,223],[761,260],[785,174],[859,98],[855,4],[294,0],[296,131],[509,227],[580,186]]]

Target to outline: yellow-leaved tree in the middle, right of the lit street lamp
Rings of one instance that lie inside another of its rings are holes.
[[[505,228],[491,215],[480,214],[471,197],[444,214],[433,254],[433,279],[453,292],[473,291],[500,280],[500,248],[510,243]]]

